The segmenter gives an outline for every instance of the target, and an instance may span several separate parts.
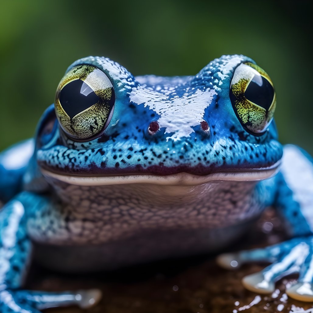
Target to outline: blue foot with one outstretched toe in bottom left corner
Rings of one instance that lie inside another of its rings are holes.
[[[0,291],[0,312],[40,313],[38,310],[68,305],[87,309],[97,304],[100,299],[101,291],[98,289],[64,292],[3,290]]]

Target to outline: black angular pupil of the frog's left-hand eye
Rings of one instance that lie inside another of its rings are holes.
[[[95,92],[80,79],[65,85],[60,91],[59,100],[70,118],[100,102]]]

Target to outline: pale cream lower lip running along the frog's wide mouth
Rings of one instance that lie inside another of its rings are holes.
[[[233,181],[233,182],[253,182],[261,181],[274,176],[279,168],[280,161],[271,167],[238,170],[228,172],[213,172],[208,175],[194,175],[186,172],[171,175],[153,175],[153,174],[128,174],[128,175],[107,175],[107,176],[82,176],[66,175],[50,172],[41,168],[42,174],[49,178],[57,179],[71,185],[78,186],[105,186],[120,184],[155,184],[167,186],[195,186],[214,181]]]

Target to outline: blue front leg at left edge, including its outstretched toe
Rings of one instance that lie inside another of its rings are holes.
[[[27,206],[44,197],[23,192],[0,209],[0,312],[38,313],[56,306],[87,308],[100,300],[99,290],[41,292],[21,290],[31,260],[32,243],[26,230]]]

